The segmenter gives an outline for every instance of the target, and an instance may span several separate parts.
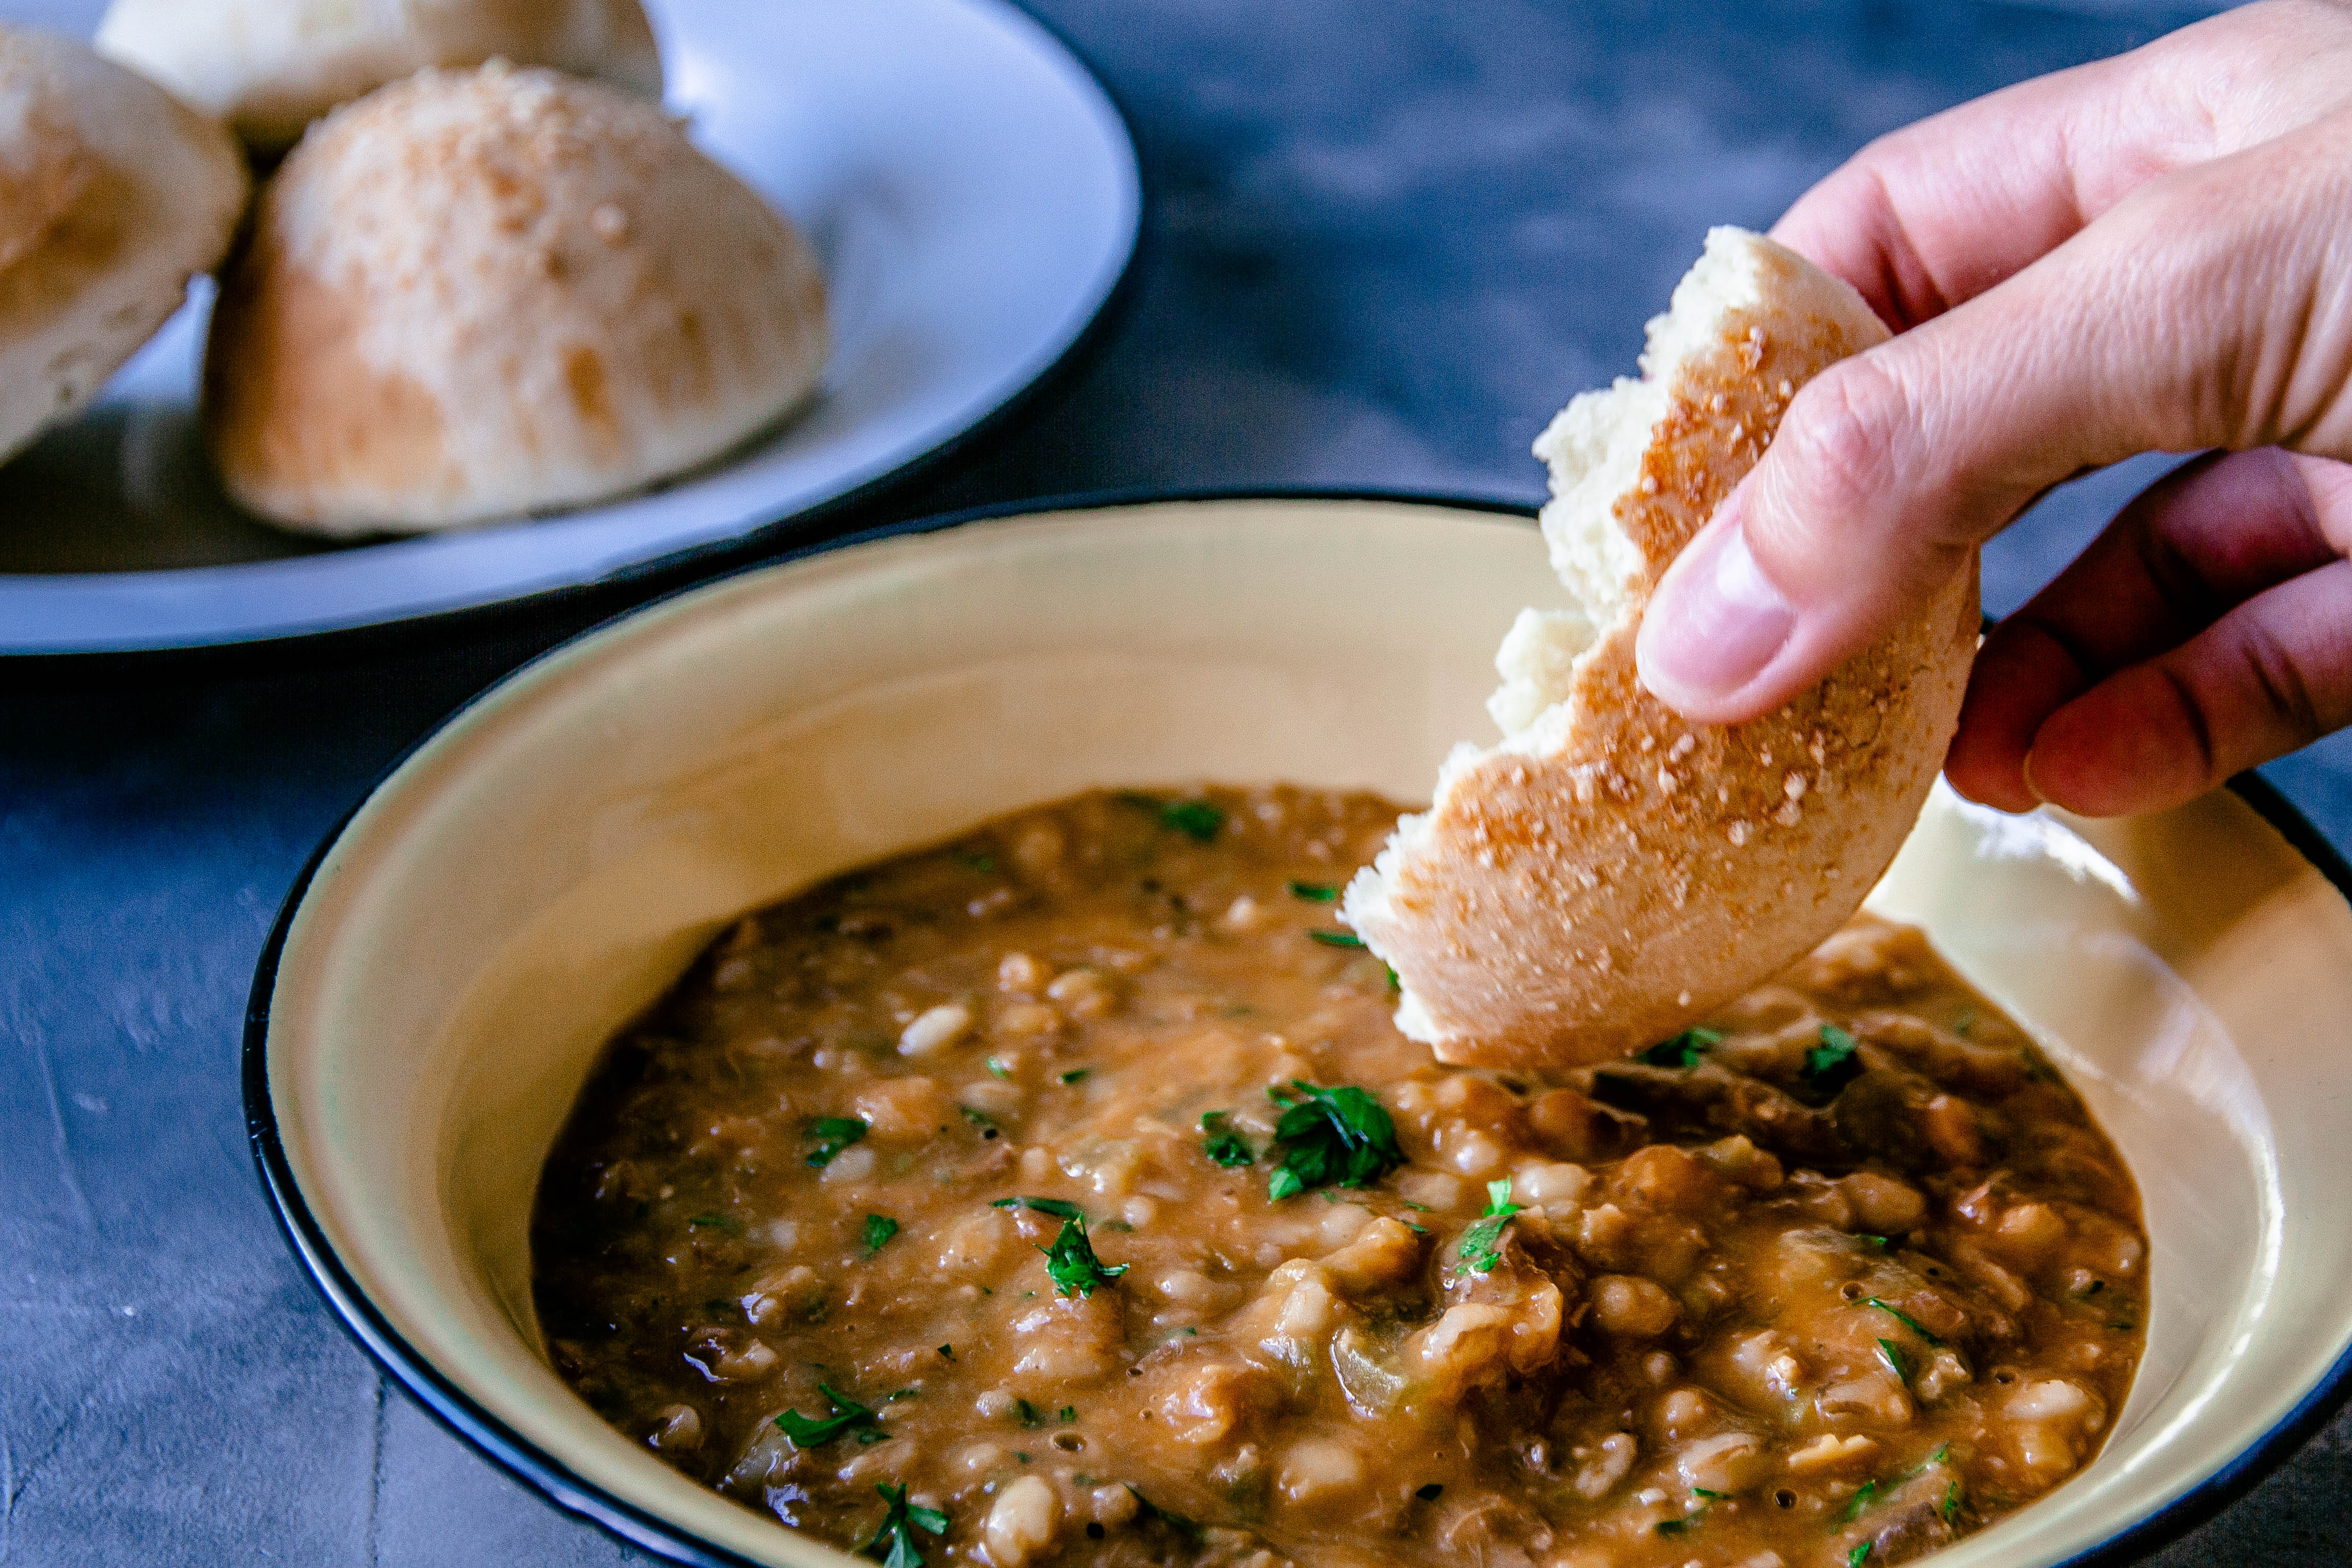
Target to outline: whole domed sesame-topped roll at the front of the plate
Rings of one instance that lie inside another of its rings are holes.
[[[795,407],[826,357],[800,235],[633,94],[426,71],[339,108],[221,280],[205,442],[318,534],[576,505]]]

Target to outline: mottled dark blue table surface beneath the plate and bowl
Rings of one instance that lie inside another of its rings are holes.
[[[684,0],[691,2],[691,0]],[[2129,0],[1044,0],[1143,148],[1094,357],[830,527],[1143,484],[1536,498],[1708,223],[2197,9]],[[1987,555],[2018,604],[2150,477]],[[642,592],[642,590],[637,590]],[[245,1152],[238,1027],[313,844],[445,710],[628,592],[259,661],[0,665],[0,1563],[644,1561],[390,1392]],[[2352,844],[2352,750],[2270,776]],[[2352,1556],[2352,1420],[2154,1561]]]

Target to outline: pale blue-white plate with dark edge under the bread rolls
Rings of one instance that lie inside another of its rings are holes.
[[[0,0],[89,31],[96,0]],[[240,515],[198,449],[209,282],[99,407],[0,468],[0,654],[292,637],[593,583],[898,475],[1007,409],[1134,254],[1134,143],[1002,0],[649,0],[670,108],[814,240],[821,402],[654,494],[318,548]]]

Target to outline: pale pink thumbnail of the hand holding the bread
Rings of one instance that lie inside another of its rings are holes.
[[[1797,630],[1797,611],[1766,581],[1738,515],[1708,529],[1642,616],[1642,679],[1668,705],[1726,698],[1757,677]]]

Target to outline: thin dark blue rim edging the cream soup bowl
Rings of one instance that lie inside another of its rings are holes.
[[[360,811],[367,799],[395,773],[400,766],[433,736],[442,733],[459,715],[473,710],[475,703],[503,691],[513,679],[527,675],[539,663],[567,654],[576,642],[595,637],[612,625],[628,621],[644,609],[656,604],[668,604],[682,595],[708,588],[713,581],[724,583],[731,576],[743,576],[748,571],[762,571],[767,567],[804,559],[811,555],[823,555],[847,545],[873,543],[880,538],[906,538],[915,534],[936,534],[941,529],[962,527],[969,522],[988,522],[993,517],[1021,517],[1035,512],[1070,512],[1070,510],[1101,510],[1117,505],[1138,503],[1162,503],[1162,501],[1397,501],[1414,505],[1437,505],[1451,510],[1494,512],[1503,517],[1534,520],[1534,508],[1489,501],[1475,496],[1444,496],[1423,491],[1381,491],[1381,489],[1157,489],[1157,491],[1110,491],[1110,494],[1087,494],[1087,496],[1051,496],[1037,501],[1016,501],[1007,505],[988,505],[967,512],[948,512],[941,517],[917,517],[908,522],[896,522],[877,529],[866,529],[861,534],[849,534],[842,538],[823,541],[793,550],[779,559],[760,562],[746,567],[743,571],[694,583],[677,592],[652,599],[649,604],[623,611],[595,628],[588,628],[579,637],[572,637],[555,649],[548,649],[539,658],[520,665],[510,675],[501,677],[463,705],[449,712],[440,724],[421,736],[412,748],[407,748],[383,773],[367,788],[360,804],[355,804],[343,818],[327,832],[320,846],[303,863],[301,875],[287,891],[285,903],[278,910],[278,919],[270,924],[270,938],[261,950],[261,959],[254,966],[254,987],[245,1006],[245,1044],[242,1044],[242,1086],[245,1086],[245,1133],[252,1143],[254,1166],[261,1175],[261,1185],[270,1199],[270,1208],[278,1218],[278,1227],[294,1248],[296,1260],[308,1274],[310,1284],[318,1288],[327,1309],[343,1324],[343,1328],[360,1342],[360,1347],[376,1361],[376,1366],[393,1378],[407,1394],[426,1408],[442,1427],[461,1436],[463,1441],[489,1455],[501,1469],[513,1474],[517,1481],[532,1486],[543,1497],[555,1502],[560,1509],[579,1514],[590,1523],[609,1530],[612,1535],[654,1552],[656,1556],[670,1559],[675,1563],[691,1563],[694,1568],[757,1568],[753,1559],[724,1547],[715,1547],[699,1540],[675,1523],[640,1509],[621,1497],[614,1497],[593,1481],[581,1479],[569,1465],[555,1453],[539,1448],[496,1415],[485,1410],[475,1399],[461,1389],[456,1382],[445,1378],[423,1354],[416,1352],[386,1319],[376,1312],[374,1302],[360,1291],[358,1281],[343,1269],[341,1260],[327,1244],[318,1218],[310,1213],[294,1182],[294,1168],[287,1161],[285,1143],[278,1131],[278,1110],[268,1093],[268,1027],[270,1027],[270,994],[278,985],[278,964],[285,954],[287,931],[294,924],[294,914],[310,891],[310,882],[318,877],[327,851],[343,837],[350,818]],[[2284,837],[2296,853],[2312,863],[2321,877],[2326,877],[2338,893],[2352,900],[2352,865],[2336,851],[2333,844],[2321,837],[2312,823],[2296,811],[2277,788],[2256,773],[2241,773],[2227,785],[2239,799],[2256,809],[2256,813],[2267,820],[2279,837]],[[2286,1455],[2303,1446],[2303,1441],[2317,1432],[2326,1420],[2331,1420],[2345,1401],[2352,1399],[2352,1349],[2336,1359],[2324,1378],[2296,1403],[2296,1408],[2270,1432],[2256,1439],[2246,1450],[2225,1462],[2201,1483],[2176,1497],[2171,1505],[2157,1509],[2147,1519],[2140,1519],[2117,1535],[2103,1540],[2100,1544],[2067,1559],[2060,1568],[2119,1568],[2122,1563],[2138,1561],[2147,1552],[2178,1540],[2187,1530],[2216,1516],[2230,1502],[2249,1493],[2263,1476],[2267,1476]]]

